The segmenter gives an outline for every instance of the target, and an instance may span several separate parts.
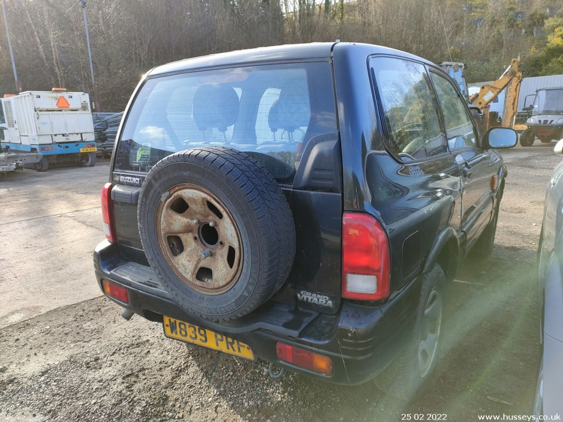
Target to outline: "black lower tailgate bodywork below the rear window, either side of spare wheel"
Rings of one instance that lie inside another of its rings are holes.
[[[120,254],[148,266],[137,226],[137,200],[144,178],[144,174],[114,172],[111,199]],[[271,300],[334,313],[341,290],[341,194],[283,191],[296,226],[296,254],[287,282]]]

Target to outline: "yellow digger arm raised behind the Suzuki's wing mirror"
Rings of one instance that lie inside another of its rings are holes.
[[[504,109],[502,113],[502,125],[509,127],[513,116],[516,114],[518,106],[518,95],[520,93],[520,83],[522,82],[522,72],[519,70],[520,57],[512,59],[510,66],[504,71],[502,76],[493,83],[481,87],[479,92],[469,98],[469,102],[479,106],[481,109],[493,101],[504,88]]]

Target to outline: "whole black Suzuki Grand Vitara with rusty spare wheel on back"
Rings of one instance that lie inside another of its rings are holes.
[[[452,79],[354,43],[159,66],[133,93],[93,254],[164,335],[333,383],[436,366],[446,284],[493,247],[507,170]],[[392,363],[392,365],[391,365]]]

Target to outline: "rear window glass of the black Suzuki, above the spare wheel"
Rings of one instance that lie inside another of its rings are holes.
[[[292,183],[306,143],[336,132],[328,62],[195,71],[148,79],[131,107],[116,170],[148,172],[176,151],[229,146]]]

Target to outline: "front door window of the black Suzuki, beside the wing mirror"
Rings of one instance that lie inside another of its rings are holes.
[[[473,119],[457,89],[448,79],[434,72],[430,72],[430,78],[434,83],[444,116],[450,150],[467,146],[476,147],[477,132],[473,127]]]

